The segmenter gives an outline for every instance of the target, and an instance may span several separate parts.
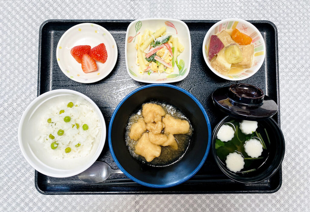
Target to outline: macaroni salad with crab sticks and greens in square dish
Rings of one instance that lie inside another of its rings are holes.
[[[172,34],[166,33],[166,27],[151,32],[146,29],[143,35],[138,36],[136,64],[139,73],[148,75],[152,73],[174,72],[178,66],[177,56],[184,51],[184,46],[179,39]]]

